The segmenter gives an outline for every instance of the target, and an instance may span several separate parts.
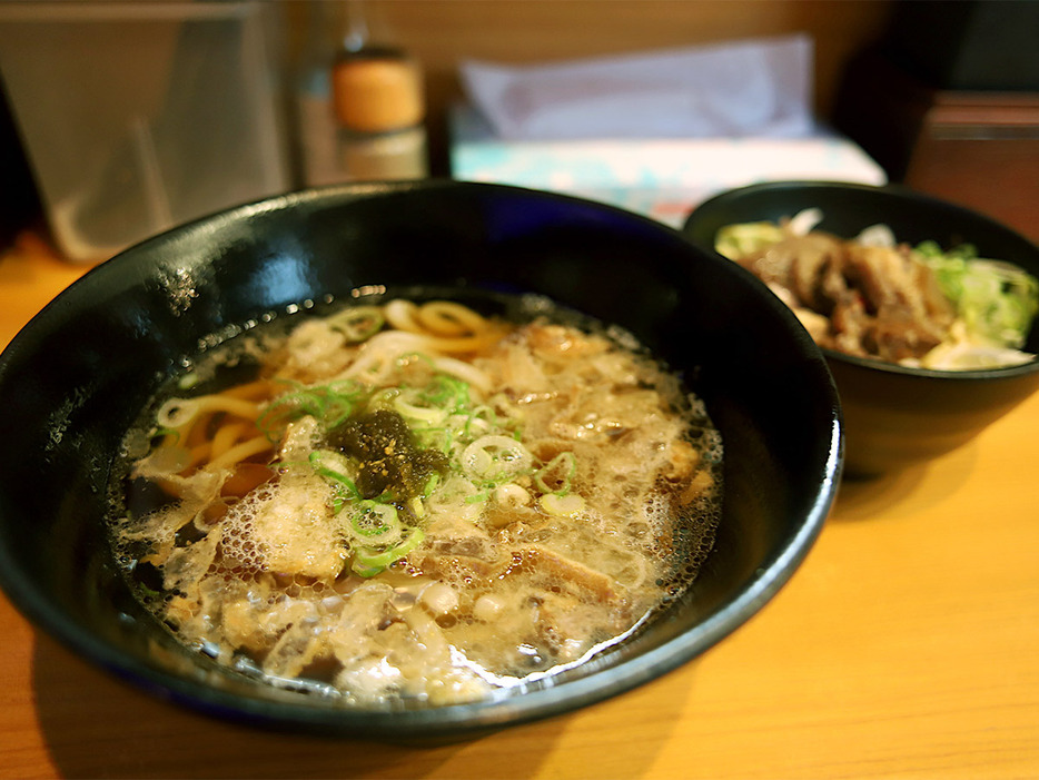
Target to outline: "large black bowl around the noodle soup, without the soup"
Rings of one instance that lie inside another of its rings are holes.
[[[699,579],[586,668],[474,704],[349,709],[184,651],[131,598],[106,543],[105,488],[127,426],[200,344],[326,296],[416,284],[551,296],[627,327],[684,375],[725,447],[723,517]],[[696,656],[791,575],[841,468],[825,363],[749,274],[647,219],[488,185],[307,191],[136,246],[12,342],[0,357],[0,583],[30,620],[79,655],[210,714],[383,740],[464,738],[547,717]]]

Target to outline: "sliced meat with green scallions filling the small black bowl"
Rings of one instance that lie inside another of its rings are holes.
[[[815,214],[812,214],[815,211]],[[973,247],[900,244],[885,226],[845,240],[815,209],[719,231],[715,248],[764,282],[822,347],[926,368],[1027,363],[1039,283]]]

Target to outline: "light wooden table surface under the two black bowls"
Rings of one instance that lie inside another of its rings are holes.
[[[0,260],[0,344],[83,267]],[[1039,394],[926,466],[845,482],[790,583],[684,668],[434,749],[260,733],[155,700],[0,596],[0,776],[1039,778]]]

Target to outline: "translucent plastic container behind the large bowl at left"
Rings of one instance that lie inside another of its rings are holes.
[[[289,188],[271,11],[0,3],[0,75],[69,259]]]

